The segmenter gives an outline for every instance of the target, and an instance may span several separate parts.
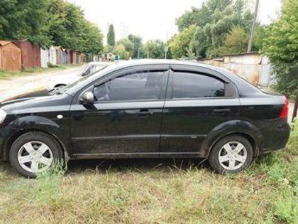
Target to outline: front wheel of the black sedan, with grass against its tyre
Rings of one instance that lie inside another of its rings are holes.
[[[55,162],[64,164],[62,147],[43,132],[27,132],[18,137],[11,145],[9,160],[18,174],[29,178],[50,169]]]

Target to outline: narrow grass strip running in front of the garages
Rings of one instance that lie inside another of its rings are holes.
[[[55,70],[63,70],[67,68],[73,68],[77,66],[81,66],[82,64],[77,65],[52,65],[51,68],[26,68],[21,71],[5,71],[0,70],[0,80],[1,79],[11,79],[11,78],[17,78],[21,76],[27,76],[27,75],[36,75],[36,74],[43,74],[52,72]]]

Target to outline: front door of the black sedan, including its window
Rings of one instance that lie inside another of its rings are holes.
[[[87,87],[94,105],[70,109],[77,156],[133,156],[158,152],[169,65],[118,71]],[[84,92],[83,91],[83,92]]]

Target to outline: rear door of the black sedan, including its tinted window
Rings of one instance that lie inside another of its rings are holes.
[[[170,71],[160,152],[202,156],[200,149],[209,133],[237,116],[236,90],[228,80],[208,70],[175,69]]]

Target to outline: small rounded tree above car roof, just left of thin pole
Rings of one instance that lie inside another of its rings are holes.
[[[165,58],[165,43],[160,40],[147,41],[144,50],[147,58]]]

